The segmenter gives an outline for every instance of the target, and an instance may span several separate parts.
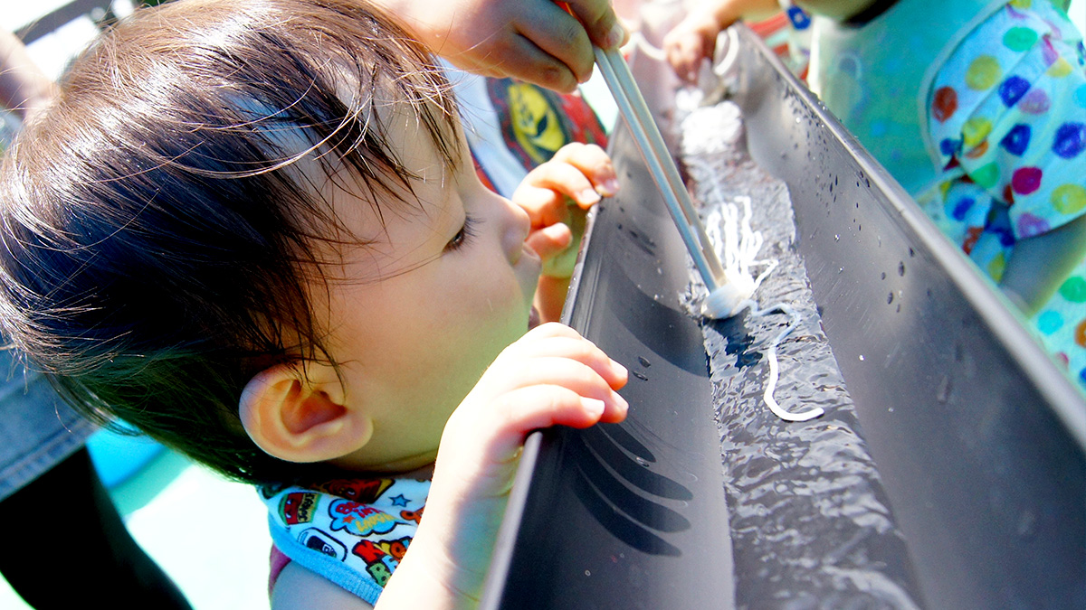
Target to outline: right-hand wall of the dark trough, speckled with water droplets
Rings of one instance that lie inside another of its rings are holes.
[[[930,608],[1086,608],[1086,402],[957,247],[741,30],[825,334]]]

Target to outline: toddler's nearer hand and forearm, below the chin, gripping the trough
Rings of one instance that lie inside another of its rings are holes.
[[[616,390],[626,381],[624,367],[563,325],[540,326],[505,348],[445,425],[426,514],[396,574],[411,561],[413,573],[422,570],[458,600],[442,607],[478,601],[525,437],[623,420]]]

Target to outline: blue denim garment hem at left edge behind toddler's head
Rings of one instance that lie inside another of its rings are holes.
[[[83,446],[94,427],[0,350],[0,500]]]

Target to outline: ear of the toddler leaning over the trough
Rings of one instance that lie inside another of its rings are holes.
[[[239,409],[260,448],[279,459],[312,462],[345,456],[369,442],[372,421],[344,405],[336,369],[308,361],[256,373],[241,393]]]

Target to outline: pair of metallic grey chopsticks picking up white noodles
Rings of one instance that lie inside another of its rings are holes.
[[[645,99],[637,89],[633,74],[630,73],[630,66],[616,49],[605,51],[594,46],[593,50],[596,65],[618,104],[619,113],[633,134],[653,181],[664,194],[664,202],[683,243],[686,244],[686,250],[690,251],[691,258],[694,259],[694,266],[697,267],[709,294],[712,294],[728,283],[728,276],[724,275],[720,258],[705,233],[705,227],[702,226],[697,211],[694,209],[694,204],[686,193],[686,187],[679,176],[679,169],[671,160],[671,153],[668,152],[660,130],[656,127],[648,106],[645,105]]]

